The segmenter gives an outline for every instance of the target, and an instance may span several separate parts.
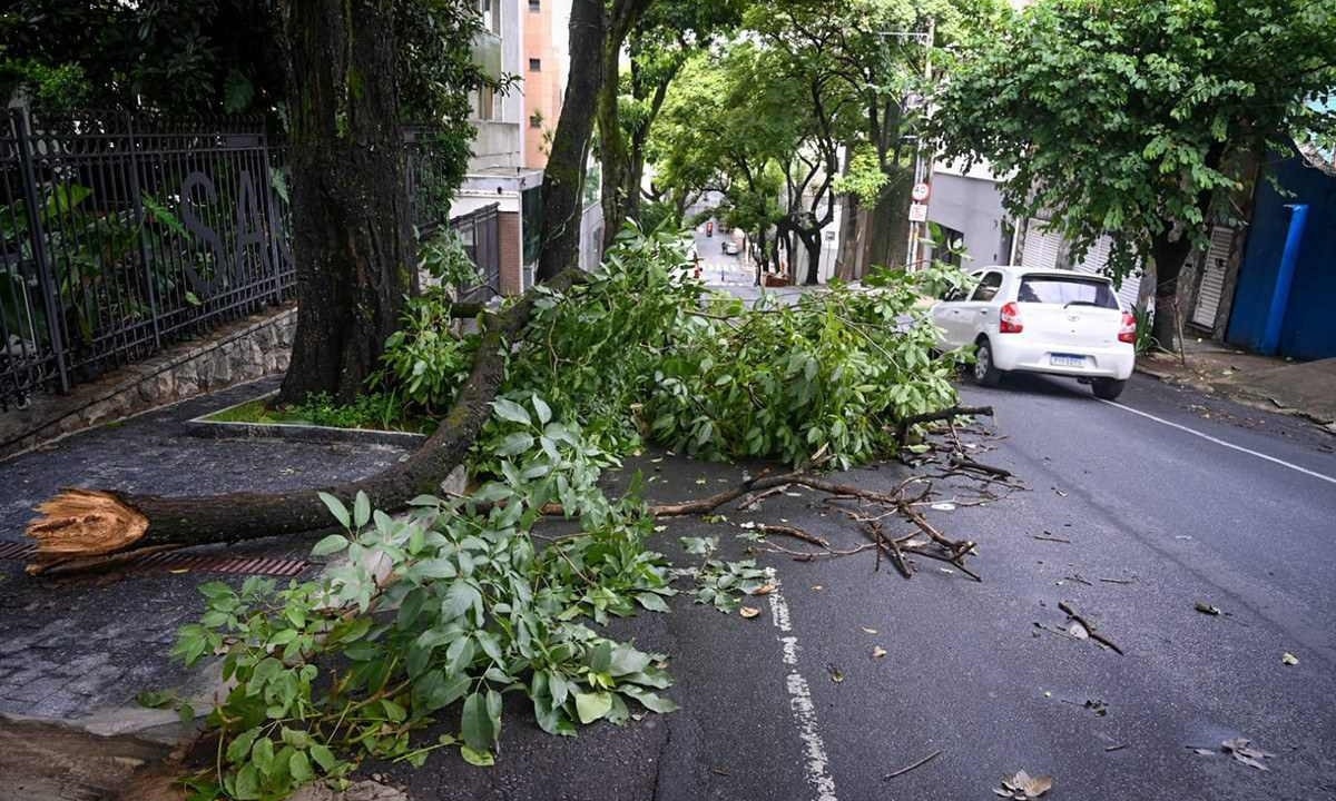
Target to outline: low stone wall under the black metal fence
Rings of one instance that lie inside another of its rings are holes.
[[[186,342],[77,384],[68,395],[35,395],[0,413],[0,458],[65,434],[287,370],[297,328],[289,306]]]

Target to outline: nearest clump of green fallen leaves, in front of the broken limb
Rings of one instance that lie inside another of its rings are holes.
[[[529,447],[508,449],[504,479],[468,499],[422,497],[395,519],[363,494],[351,507],[323,495],[343,531],[313,553],[347,557],[325,578],[200,586],[207,611],[182,627],[174,654],[194,663],[224,653],[235,682],[207,721],[219,764],[195,782],[203,797],[282,798],[366,757],[421,764],[446,745],[489,764],[504,693],[526,696],[553,734],[625,722],[635,706],[675,709],[657,694],[671,684],[664,657],[580,622],[661,609],[675,593],[644,547],[651,521],[633,497],[603,495],[597,450],[545,410],[537,396],[497,403]],[[529,531],[557,498],[581,530],[538,550]],[[456,702],[457,734],[413,741]]]

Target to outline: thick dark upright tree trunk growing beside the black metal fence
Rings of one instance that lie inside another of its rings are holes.
[[[414,284],[393,7],[287,0],[283,15],[298,311],[279,399],[351,402]]]

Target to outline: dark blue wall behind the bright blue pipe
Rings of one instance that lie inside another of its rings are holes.
[[[1225,339],[1253,350],[1259,347],[1289,230],[1291,212],[1285,206],[1307,203],[1308,224],[1285,308],[1280,355],[1296,359],[1336,356],[1336,178],[1305,167],[1297,159],[1277,166],[1276,178],[1291,195],[1280,195],[1268,182],[1257,190]]]

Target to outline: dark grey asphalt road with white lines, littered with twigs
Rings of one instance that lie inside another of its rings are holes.
[[[930,513],[979,542],[982,583],[934,562],[906,581],[874,571],[870,554],[767,554],[780,591],[755,619],[677,597],[672,614],[613,627],[672,654],[680,712],[554,738],[513,704],[496,768],[441,754],[382,770],[441,800],[969,800],[995,797],[1021,769],[1053,776],[1054,801],[1336,798],[1336,439],[1141,376],[1122,407],[1043,378],[966,387],[963,399],[995,407],[1001,439],[981,458],[1026,485]],[[740,474],[640,467],[660,498]],[[878,487],[903,475],[847,478]],[[741,555],[732,525],[744,518],[859,542],[808,503],[783,495],[727,510],[727,523],[680,521],[659,546],[687,563],[676,538],[712,534]],[[1126,654],[1037,627],[1065,626],[1059,601]],[[1273,753],[1269,770],[1193,750],[1232,737]]]

